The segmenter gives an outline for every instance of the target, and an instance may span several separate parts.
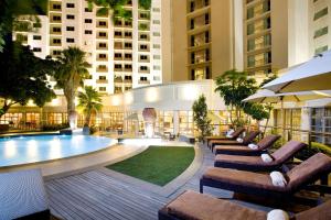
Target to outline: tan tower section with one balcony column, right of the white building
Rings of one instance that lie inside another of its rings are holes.
[[[232,0],[171,0],[170,4],[168,79],[211,79],[232,68],[236,40]]]

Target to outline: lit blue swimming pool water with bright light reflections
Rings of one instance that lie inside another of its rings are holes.
[[[0,167],[65,158],[99,151],[117,141],[89,135],[34,135],[0,139]]]

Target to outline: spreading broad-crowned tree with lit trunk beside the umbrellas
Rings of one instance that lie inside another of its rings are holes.
[[[215,91],[218,91],[225,105],[229,106],[231,112],[235,111],[235,119],[231,114],[231,122],[235,127],[241,127],[244,123],[242,111],[245,103],[243,100],[255,94],[257,89],[255,79],[248,78],[244,72],[232,69],[217,77]]]

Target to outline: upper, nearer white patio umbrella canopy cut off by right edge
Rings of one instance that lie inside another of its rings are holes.
[[[331,50],[289,68],[285,75],[266,84],[263,88],[275,92],[331,89]]]

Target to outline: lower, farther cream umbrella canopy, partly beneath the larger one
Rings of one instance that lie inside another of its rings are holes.
[[[331,98],[331,90],[275,94],[274,91],[261,89],[258,90],[256,94],[249,96],[248,98],[244,99],[243,101],[271,103],[280,101],[308,101],[322,98]]]

